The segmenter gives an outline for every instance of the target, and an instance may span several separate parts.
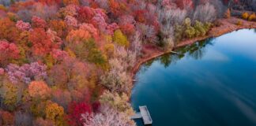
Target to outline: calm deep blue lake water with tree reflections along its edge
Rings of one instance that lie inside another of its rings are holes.
[[[256,126],[256,30],[176,51],[141,67],[135,110],[148,106],[153,126]]]

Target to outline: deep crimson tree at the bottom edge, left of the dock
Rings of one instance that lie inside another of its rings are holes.
[[[92,113],[92,106],[85,102],[77,103],[77,102],[72,102],[70,103],[70,106],[68,108],[68,122],[70,125],[73,126],[82,126],[83,121],[81,120],[81,114],[82,113]]]

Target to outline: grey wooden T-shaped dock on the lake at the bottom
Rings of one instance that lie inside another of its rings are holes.
[[[139,106],[140,113],[136,113],[133,117],[131,117],[132,120],[142,118],[144,124],[152,124],[152,118],[149,114],[149,109],[147,106]]]

